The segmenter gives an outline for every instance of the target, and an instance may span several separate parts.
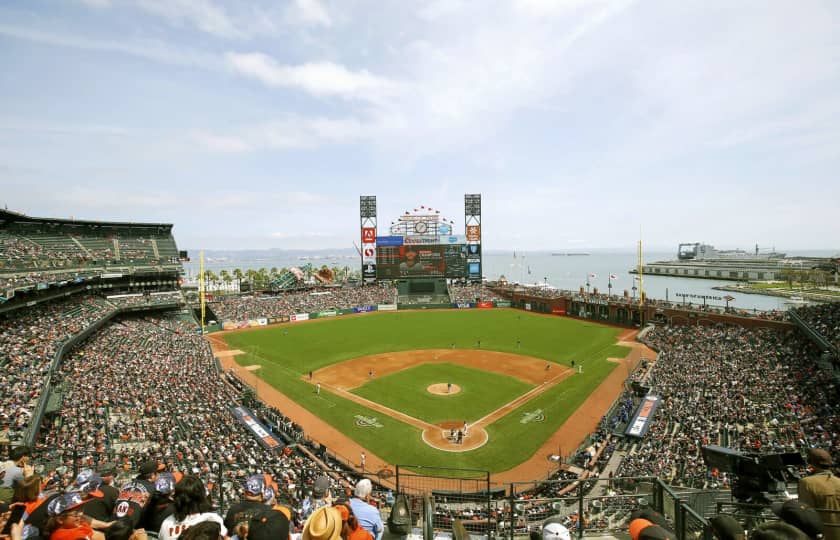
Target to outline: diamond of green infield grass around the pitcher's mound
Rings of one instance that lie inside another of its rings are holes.
[[[430,384],[455,382],[461,391],[430,394]],[[497,373],[453,364],[424,364],[376,378],[353,393],[414,418],[436,424],[445,420],[474,422],[533,388]],[[455,412],[460,416],[453,416]]]

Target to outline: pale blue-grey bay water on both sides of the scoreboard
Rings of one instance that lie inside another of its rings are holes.
[[[589,277],[590,290],[597,288],[599,292],[607,292],[608,276],[613,274],[612,293],[623,294],[626,290],[633,295],[632,287],[636,285],[635,294],[638,296],[638,281],[634,281],[634,274],[629,271],[637,265],[637,255],[633,252],[617,252],[592,250],[586,256],[553,256],[550,252],[485,252],[484,276],[496,280],[501,276],[508,281],[519,283],[548,283],[558,289],[577,291],[586,288]],[[831,252],[791,253],[792,255],[829,256]],[[187,276],[198,274],[198,251],[190,252],[192,261],[185,264]],[[645,262],[670,260],[675,258],[675,252],[650,252],[644,254]],[[249,252],[205,252],[205,268],[218,273],[222,269],[231,272],[234,268],[242,271],[272,267],[288,268],[311,263],[320,268],[327,265],[332,268],[345,266],[353,270],[360,268],[358,255],[352,250],[324,250],[319,252],[279,252],[279,251],[249,251]],[[642,287],[650,298],[682,301],[677,293],[707,295],[723,297],[731,294],[735,297],[730,305],[740,309],[773,310],[789,307],[787,300],[773,296],[756,294],[726,293],[712,287],[732,284],[731,281],[691,279],[665,276],[643,276]],[[694,300],[702,303],[702,300]],[[707,300],[708,304],[724,305],[722,300]]]

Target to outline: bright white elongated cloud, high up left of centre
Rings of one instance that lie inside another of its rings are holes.
[[[268,86],[299,88],[316,96],[337,95],[374,99],[393,86],[385,78],[367,70],[350,71],[333,62],[283,65],[262,53],[227,53],[225,59],[234,71],[255,78]]]

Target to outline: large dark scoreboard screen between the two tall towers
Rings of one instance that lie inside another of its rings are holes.
[[[465,244],[378,246],[376,278],[467,277]]]

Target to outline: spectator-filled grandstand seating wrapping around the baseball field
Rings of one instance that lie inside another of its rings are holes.
[[[0,445],[5,452],[33,446],[42,472],[58,471],[64,482],[103,463],[118,464],[127,478],[142,461],[159,459],[199,475],[223,511],[257,471],[278,480],[281,498],[294,509],[320,475],[337,492],[368,476],[384,515],[389,490],[411,496],[418,531],[448,533],[460,521],[473,534],[526,536],[553,516],[580,534],[615,534],[626,530],[634,510],[653,507],[684,539],[708,535],[708,518],[722,508],[744,508],[731,496],[736,479],[708,467],[703,446],[763,453],[821,447],[835,462],[840,456],[837,304],[799,308],[790,322],[783,314],[647,299],[642,320],[655,324],[640,339],[658,358],[629,374],[598,428],[567,455],[552,456],[544,478],[500,484],[481,471],[418,473],[399,464],[389,477],[360,470],[340,448],[328,451],[289,411],[261,403],[238,374],[220,371],[178,290],[182,270],[171,225],[4,212],[0,248]],[[393,282],[295,286],[210,305],[220,323],[236,327],[301,313],[396,308],[402,296]],[[430,297],[446,307],[489,303],[639,322],[633,300],[591,300],[573,291],[459,281]],[[656,421],[643,436],[629,436],[647,395],[662,398]],[[260,444],[237,421],[236,407],[251,411],[277,445]],[[795,482],[788,487],[795,490]],[[752,511],[755,519],[760,512]],[[302,526],[297,514],[293,526]]]

